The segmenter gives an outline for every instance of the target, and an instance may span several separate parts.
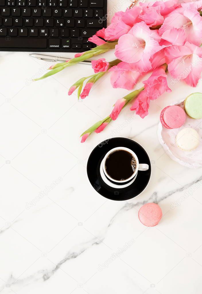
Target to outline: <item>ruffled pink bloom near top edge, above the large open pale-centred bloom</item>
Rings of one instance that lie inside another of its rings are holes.
[[[164,17],[160,14],[160,11],[153,7],[144,7],[139,18],[149,27],[158,26],[164,22]]]

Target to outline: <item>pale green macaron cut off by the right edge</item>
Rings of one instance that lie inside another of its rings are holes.
[[[202,93],[192,93],[184,101],[184,109],[188,116],[202,118]]]

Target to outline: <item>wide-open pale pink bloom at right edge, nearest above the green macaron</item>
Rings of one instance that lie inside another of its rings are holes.
[[[165,48],[164,54],[171,76],[196,87],[201,78],[202,48],[186,42],[183,46],[174,45]]]

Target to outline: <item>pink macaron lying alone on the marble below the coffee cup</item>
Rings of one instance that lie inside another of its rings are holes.
[[[153,227],[161,220],[162,211],[158,204],[147,203],[140,208],[138,217],[143,225],[146,225],[147,227]]]

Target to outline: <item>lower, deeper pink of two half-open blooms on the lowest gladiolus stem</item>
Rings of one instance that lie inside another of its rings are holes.
[[[144,118],[148,115],[149,103],[150,98],[147,97],[146,91],[143,90],[136,98],[130,110],[135,110],[136,114],[138,114],[141,118]]]

